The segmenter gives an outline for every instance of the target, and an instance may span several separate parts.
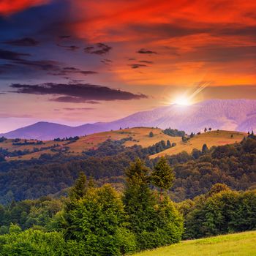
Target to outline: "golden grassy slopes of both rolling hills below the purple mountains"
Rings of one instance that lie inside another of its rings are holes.
[[[152,138],[148,136],[149,132],[151,131],[154,133],[154,137]],[[233,138],[231,138],[231,135],[233,135]],[[178,154],[181,151],[187,151],[188,153],[191,153],[193,148],[201,149],[204,143],[207,144],[208,148],[211,148],[211,146],[221,146],[225,144],[236,143],[241,141],[244,138],[244,136],[246,136],[246,133],[244,132],[212,131],[212,132],[202,133],[201,135],[196,135],[194,138],[191,138],[187,143],[183,143],[180,137],[170,137],[168,135],[165,135],[161,129],[138,127],[138,128],[122,129],[122,130],[111,131],[111,132],[99,132],[93,135],[80,137],[79,140],[77,140],[75,143],[70,143],[67,145],[69,147],[69,151],[66,154],[74,154],[74,155],[81,154],[82,151],[86,151],[91,148],[97,148],[99,146],[99,143],[102,143],[105,140],[108,140],[108,139],[121,140],[123,138],[129,138],[129,137],[132,137],[132,141],[129,140],[125,142],[124,143],[125,146],[133,146],[137,144],[143,147],[148,147],[159,142],[160,140],[165,140],[165,142],[167,140],[170,140],[170,143],[177,144],[173,148],[168,148],[165,151],[162,151],[158,154],[154,154],[153,156],[151,156],[151,158],[154,158],[154,157],[164,156],[165,154],[167,155]],[[49,140],[49,141],[45,141],[44,143],[45,143],[44,145],[12,146],[12,140],[6,140],[3,143],[0,143],[0,147],[8,148],[9,151],[24,150],[24,149],[33,150],[34,147],[42,148],[42,147],[53,146],[53,144],[59,144],[60,146],[65,146],[67,141],[54,142],[52,140]],[[43,153],[56,154],[56,152],[53,152],[50,149],[47,149],[44,151],[26,154],[23,157],[19,157],[19,158],[13,157],[11,159],[31,159],[32,157],[37,158]]]

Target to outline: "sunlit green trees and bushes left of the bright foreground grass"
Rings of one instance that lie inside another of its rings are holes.
[[[0,252],[124,255],[177,243],[183,233],[183,219],[170,198],[163,195],[173,179],[173,170],[164,158],[152,171],[140,159],[132,162],[122,194],[109,184],[95,187],[93,179],[80,173],[69,196],[59,204],[55,200],[37,200],[41,207],[31,206],[29,214],[26,201],[2,207],[1,222],[6,223],[0,227]],[[12,219],[10,223],[10,216],[18,217],[16,222]]]

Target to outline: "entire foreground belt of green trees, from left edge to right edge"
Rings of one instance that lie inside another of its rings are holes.
[[[175,173],[164,157],[150,169],[136,159],[124,189],[97,186],[83,172],[67,197],[46,196],[0,207],[1,255],[128,255],[144,249],[256,228],[256,189],[214,184],[174,203]]]

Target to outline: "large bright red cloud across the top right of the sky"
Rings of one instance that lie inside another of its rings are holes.
[[[165,24],[206,31],[215,26],[256,25],[256,1],[252,0],[72,0],[71,4],[73,13],[78,15],[72,29],[78,37],[91,42],[124,42],[145,37],[154,40],[162,33],[158,27]],[[173,30],[163,29],[165,34]]]

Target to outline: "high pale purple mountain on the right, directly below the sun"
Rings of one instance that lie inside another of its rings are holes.
[[[205,127],[247,132],[255,129],[255,117],[256,100],[211,99],[192,106],[170,105],[135,113],[110,124],[173,127],[189,133],[202,131]]]

